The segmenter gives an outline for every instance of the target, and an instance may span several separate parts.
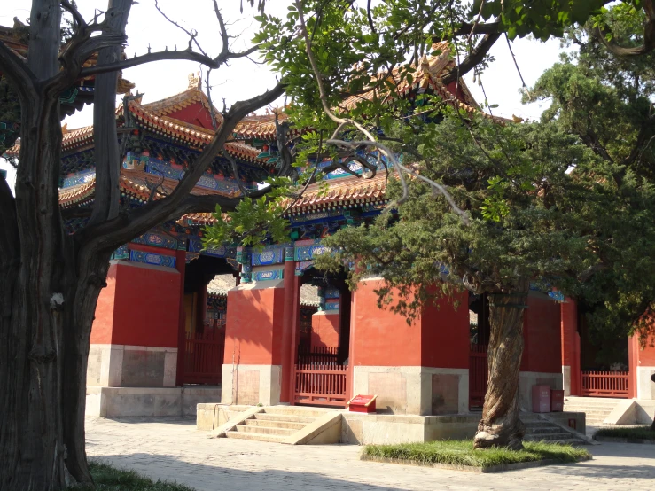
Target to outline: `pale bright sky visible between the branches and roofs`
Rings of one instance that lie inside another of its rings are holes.
[[[286,7],[292,0],[268,0],[266,8],[268,13],[285,15]],[[231,40],[232,51],[241,51],[250,45],[250,39],[256,30],[256,22],[250,5],[244,2],[243,14],[239,12],[241,0],[219,0],[223,18],[230,23],[230,34],[237,37]],[[360,3],[365,4],[363,0]],[[104,9],[106,0],[77,0],[78,7],[85,19],[93,16],[95,8]],[[215,56],[221,49],[218,35],[217,21],[214,15],[214,6],[211,0],[160,0],[160,7],[169,18],[175,19],[183,27],[198,31],[198,40],[209,55]],[[13,25],[13,18],[18,17],[27,23],[31,1],[5,0],[0,5],[0,25]],[[183,49],[188,43],[188,35],[170,24],[160,12],[155,9],[154,0],[139,0],[132,7],[127,27],[128,46],[126,52],[133,54],[147,52],[150,45],[152,51]],[[512,50],[519,64],[519,68],[526,84],[531,86],[542,74],[542,71],[558,61],[560,47],[557,40],[541,43],[534,40],[517,40],[512,43]],[[497,104],[494,114],[511,117],[519,116],[524,119],[537,119],[545,109],[544,103],[522,105],[521,81],[507,43],[501,38],[492,48],[490,54],[495,61],[482,75],[484,89],[490,105]],[[164,97],[175,95],[186,90],[188,75],[200,69],[197,63],[188,61],[160,61],[144,66],[136,66],[124,71],[123,77],[136,83],[136,90],[144,93],[144,102],[152,102]],[[203,76],[204,79],[204,76]],[[473,97],[479,102],[484,100],[480,87],[472,82],[472,74],[464,77],[465,82],[472,90]],[[257,65],[246,58],[230,62],[230,66],[223,66],[214,71],[210,80],[214,105],[222,107],[222,98],[228,106],[240,99],[253,97],[276,83],[276,74],[268,66]],[[86,107],[79,113],[66,118],[68,129],[79,128],[91,124],[93,121],[92,109]],[[13,168],[0,160],[0,168],[8,170],[10,184],[15,179]]]

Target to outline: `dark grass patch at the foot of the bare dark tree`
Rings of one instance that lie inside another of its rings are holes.
[[[134,471],[123,471],[96,461],[90,461],[89,468],[96,483],[95,491],[194,491],[191,487],[166,481],[154,481]],[[74,487],[75,491],[90,489],[90,487]]]

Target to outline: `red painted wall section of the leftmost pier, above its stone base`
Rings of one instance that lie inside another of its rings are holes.
[[[140,263],[117,263],[100,292],[91,343],[177,347],[180,273]]]

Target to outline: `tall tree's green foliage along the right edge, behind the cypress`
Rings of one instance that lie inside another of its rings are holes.
[[[642,42],[643,11],[624,3],[602,17],[621,45]],[[581,283],[580,298],[592,339],[608,346],[627,331],[652,330],[636,321],[655,299],[655,55],[612,55],[595,36],[596,25],[597,19],[567,33],[580,51],[546,70],[530,93],[550,101],[544,123],[578,136],[597,154],[575,170],[594,183],[595,199],[581,203],[581,212],[589,220],[589,247],[603,265]]]

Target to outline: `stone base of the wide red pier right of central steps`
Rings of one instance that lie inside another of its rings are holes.
[[[355,366],[355,394],[378,394],[378,413],[422,416],[467,413],[469,370]]]

